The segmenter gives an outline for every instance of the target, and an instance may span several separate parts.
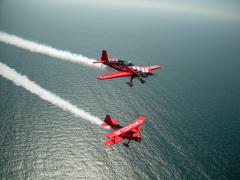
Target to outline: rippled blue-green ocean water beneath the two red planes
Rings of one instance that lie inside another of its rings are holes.
[[[0,77],[0,179],[238,179],[240,23],[131,6],[1,1],[0,30],[57,49],[162,68],[142,85],[0,43],[0,61],[94,116],[148,122],[142,143],[106,147],[107,130]]]

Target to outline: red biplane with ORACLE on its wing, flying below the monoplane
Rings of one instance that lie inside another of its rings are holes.
[[[105,145],[111,146],[113,144],[123,141],[124,139],[128,139],[128,142],[123,143],[123,145],[129,147],[129,143],[131,140],[141,142],[142,137],[140,136],[139,132],[142,129],[141,124],[145,121],[146,118],[144,116],[140,116],[130,124],[123,127],[119,125],[117,119],[111,118],[110,115],[107,114],[101,126],[110,126],[114,131],[104,134],[109,139],[103,143]]]

